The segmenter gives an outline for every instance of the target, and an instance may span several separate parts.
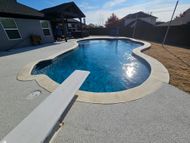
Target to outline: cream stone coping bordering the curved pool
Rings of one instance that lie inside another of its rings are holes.
[[[49,92],[53,92],[59,84],[53,81],[48,76],[41,74],[41,75],[32,75],[32,69],[35,67],[36,64],[46,60],[52,60],[57,56],[64,54],[68,51],[71,51],[78,47],[78,41],[81,40],[90,40],[90,39],[127,39],[138,43],[143,43],[144,45],[140,46],[139,48],[135,48],[133,50],[133,54],[137,57],[144,59],[151,68],[151,73],[149,77],[139,86],[130,88],[123,91],[118,92],[87,92],[79,90],[76,95],[78,96],[77,101],[81,102],[90,102],[90,103],[100,103],[100,104],[113,104],[113,103],[121,103],[127,101],[133,101],[140,99],[150,93],[153,93],[157,89],[159,89],[162,83],[169,83],[169,72],[165,68],[163,64],[161,64],[156,59],[142,53],[144,50],[151,47],[151,44],[142,40],[136,40],[133,38],[128,37],[110,37],[110,36],[94,36],[94,37],[86,37],[77,39],[74,42],[74,46],[64,49],[61,52],[58,52],[48,58],[40,59],[38,61],[31,62],[24,66],[21,71],[17,75],[17,79],[21,81],[25,80],[35,80],[42,88],[46,89]]]

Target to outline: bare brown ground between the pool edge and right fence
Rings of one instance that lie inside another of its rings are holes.
[[[144,53],[159,60],[170,73],[170,84],[190,93],[190,49],[151,43]]]

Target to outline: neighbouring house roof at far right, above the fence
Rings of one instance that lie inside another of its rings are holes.
[[[168,26],[170,22],[162,23],[158,26]],[[190,8],[186,10],[180,17],[176,17],[171,21],[171,26],[180,26],[190,24]]]

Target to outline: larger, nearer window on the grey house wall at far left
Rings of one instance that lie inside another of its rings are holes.
[[[21,39],[21,35],[19,33],[18,27],[12,18],[0,18],[0,23],[5,30],[7,37],[10,40]]]

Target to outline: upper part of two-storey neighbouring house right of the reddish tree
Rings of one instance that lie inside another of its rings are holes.
[[[129,14],[129,15],[123,17],[120,21],[122,23],[122,26],[127,27],[127,26],[129,26],[129,24],[133,23],[136,20],[141,20],[148,24],[155,25],[156,19],[157,19],[157,17],[152,16],[150,14],[146,14],[144,12],[137,12],[137,13]]]

